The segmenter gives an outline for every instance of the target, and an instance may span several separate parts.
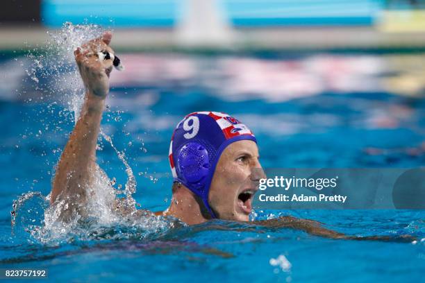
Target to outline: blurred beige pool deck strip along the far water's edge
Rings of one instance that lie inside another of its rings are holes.
[[[40,26],[0,27],[0,49],[19,50],[42,46],[49,38]],[[231,49],[424,49],[425,33],[385,33],[371,26],[308,28],[238,28]],[[118,51],[170,50],[178,47],[171,28],[116,29],[113,46]],[[217,46],[206,46],[217,48]],[[224,49],[226,46],[218,46]]]

